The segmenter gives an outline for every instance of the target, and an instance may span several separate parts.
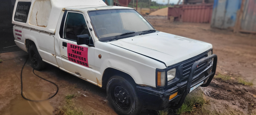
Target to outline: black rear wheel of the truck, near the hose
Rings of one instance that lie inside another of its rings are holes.
[[[31,61],[31,65],[35,70],[40,71],[45,68],[46,63],[42,60],[42,57],[38,53],[36,45],[29,46],[28,56]]]

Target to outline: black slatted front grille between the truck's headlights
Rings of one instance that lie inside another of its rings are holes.
[[[200,59],[202,59],[202,58],[204,58],[204,57],[207,57],[207,54],[203,54],[203,55],[201,55],[201,56],[198,56],[198,57],[196,57],[196,58],[193,58],[193,59],[188,60],[187,62],[181,64],[181,68],[182,68],[182,78],[187,78],[187,77],[189,76],[189,74],[190,74],[192,65],[193,65],[196,61],[198,61],[198,60],[200,60]],[[204,64],[201,64],[201,65],[198,65],[197,68],[196,68],[196,70],[195,70],[195,72],[194,72],[194,74],[197,73],[198,71],[202,70],[206,65],[208,65],[208,62],[205,62]]]

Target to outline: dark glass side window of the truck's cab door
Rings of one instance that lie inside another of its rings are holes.
[[[76,36],[82,34],[88,34],[90,36],[88,27],[84,20],[84,15],[80,13],[68,12],[64,38],[76,41]]]

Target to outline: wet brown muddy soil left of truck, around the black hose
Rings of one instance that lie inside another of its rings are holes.
[[[4,60],[0,63],[0,115],[52,115],[58,114],[66,105],[65,96],[76,94],[74,103],[81,108],[90,108],[89,114],[116,113],[107,103],[106,91],[92,83],[68,74],[57,67],[47,65],[43,71],[35,73],[59,86],[59,92],[53,98],[43,102],[30,102],[20,95],[20,71],[27,58],[27,52],[9,52],[0,54]],[[56,86],[36,77],[28,61],[22,73],[23,95],[26,98],[42,100],[56,92]]]

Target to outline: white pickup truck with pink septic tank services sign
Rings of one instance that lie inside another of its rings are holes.
[[[118,114],[177,109],[216,71],[211,44],[159,32],[102,0],[16,0],[12,23],[33,68],[49,63],[106,89]]]

